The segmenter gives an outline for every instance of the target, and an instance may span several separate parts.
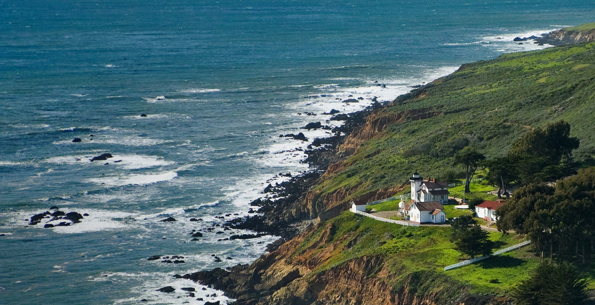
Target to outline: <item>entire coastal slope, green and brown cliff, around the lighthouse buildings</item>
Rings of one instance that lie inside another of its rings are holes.
[[[511,304],[511,287],[538,262],[530,250],[445,272],[462,259],[450,228],[379,223],[347,207],[352,199],[406,192],[415,170],[439,179],[460,175],[456,151],[473,144],[488,158],[500,156],[531,127],[560,119],[580,139],[577,159],[590,162],[595,125],[581,122],[595,119],[593,80],[595,43],[580,43],[465,64],[368,109],[347,136],[320,150],[327,157],[314,158],[324,159],[324,174],[275,188],[285,199],[261,208],[265,223],[286,232],[285,243],[251,265],[184,277],[223,290],[239,305]],[[307,227],[281,229],[297,222]],[[490,234],[502,247],[521,238]]]

